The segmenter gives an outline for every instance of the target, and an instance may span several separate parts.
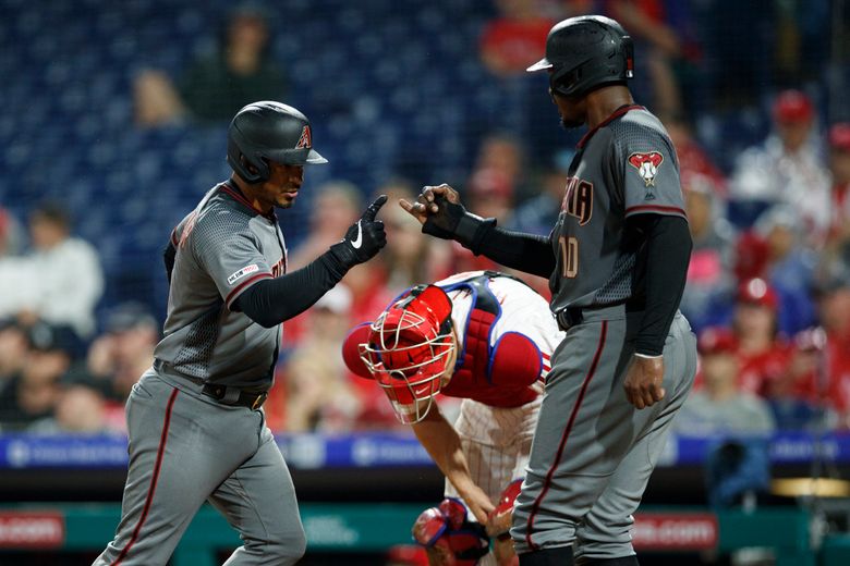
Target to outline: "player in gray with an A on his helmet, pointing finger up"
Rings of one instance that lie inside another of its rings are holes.
[[[327,162],[312,137],[292,107],[240,110],[228,132],[233,175],[172,232],[165,335],[126,403],[122,517],[95,565],[165,565],[205,501],[244,542],[226,564],[294,564],[304,554],[294,487],[262,410],[280,323],[386,244],[375,220],[381,196],[338,244],[287,272],[275,207],[292,206],[304,165]]]

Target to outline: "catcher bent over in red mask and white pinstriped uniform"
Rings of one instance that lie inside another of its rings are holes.
[[[414,527],[433,566],[515,559],[512,482],[525,473],[543,378],[562,339],[546,299],[494,271],[409,288],[345,337],[348,367],[376,381],[446,476],[447,500]],[[453,426],[438,394],[463,399]]]

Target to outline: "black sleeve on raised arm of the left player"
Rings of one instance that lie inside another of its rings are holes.
[[[259,281],[245,290],[232,309],[265,328],[272,328],[312,307],[348,268],[327,251],[312,263],[279,278]]]

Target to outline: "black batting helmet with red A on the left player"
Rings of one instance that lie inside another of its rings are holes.
[[[327,163],[313,149],[309,120],[291,106],[264,100],[236,112],[228,128],[228,163],[247,183],[266,181],[269,161],[288,165]],[[256,172],[248,171],[251,164]]]

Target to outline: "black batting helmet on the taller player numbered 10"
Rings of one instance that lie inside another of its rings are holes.
[[[549,71],[549,86],[576,97],[632,78],[632,38],[610,17],[583,15],[556,24],[546,38],[546,57],[527,69]]]

